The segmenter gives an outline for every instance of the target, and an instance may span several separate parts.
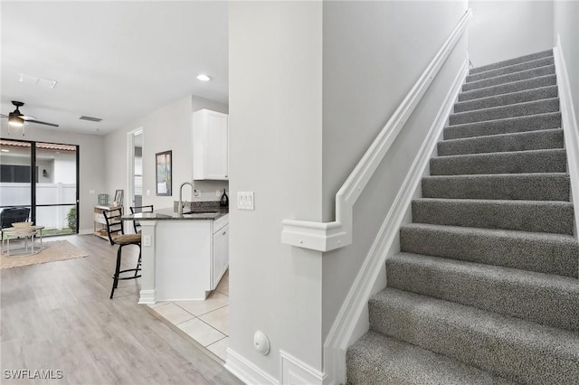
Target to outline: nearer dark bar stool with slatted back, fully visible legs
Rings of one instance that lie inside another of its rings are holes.
[[[141,277],[138,272],[141,270],[141,235],[140,234],[125,234],[123,229],[123,221],[120,219],[122,216],[122,211],[120,208],[112,209],[108,211],[102,211],[107,222],[107,233],[109,234],[109,241],[111,245],[119,245],[119,250],[117,251],[117,267],[115,268],[115,275],[113,276],[112,290],[110,291],[110,298],[112,298],[115,293],[115,289],[119,285],[120,279],[135,279]],[[122,249],[128,245],[138,246],[138,262],[137,268],[127,268],[125,270],[120,269],[120,261],[122,255]],[[120,277],[122,273],[127,273],[134,271],[135,275],[130,277]]]

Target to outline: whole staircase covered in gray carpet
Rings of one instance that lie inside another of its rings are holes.
[[[350,384],[579,384],[573,236],[553,52],[470,70]],[[579,181],[574,182],[579,184]]]

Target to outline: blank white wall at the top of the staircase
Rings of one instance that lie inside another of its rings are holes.
[[[470,61],[480,67],[553,48],[553,6],[553,1],[469,0]]]

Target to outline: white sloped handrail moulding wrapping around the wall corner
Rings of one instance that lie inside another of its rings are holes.
[[[384,159],[384,155],[394,143],[408,117],[422,99],[422,95],[432,83],[442,64],[451,54],[460,36],[466,30],[467,22],[472,15],[469,9],[436,53],[426,70],[414,84],[408,95],[394,111],[382,131],[376,136],[372,145],[366,150],[352,173],[347,177],[336,194],[336,221],[317,222],[287,219],[282,221],[281,242],[305,249],[330,251],[352,243],[352,211],[366,184]]]

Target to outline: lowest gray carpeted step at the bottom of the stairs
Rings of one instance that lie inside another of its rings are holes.
[[[514,384],[382,333],[368,332],[347,350],[351,385],[491,385]]]

